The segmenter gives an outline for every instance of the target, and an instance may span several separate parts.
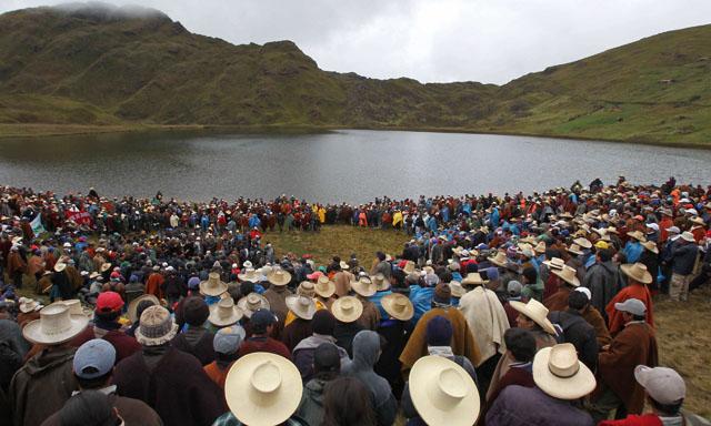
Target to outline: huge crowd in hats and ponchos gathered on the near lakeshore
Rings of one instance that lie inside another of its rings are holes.
[[[337,223],[408,242],[320,265],[264,236]],[[711,186],[673,178],[361,205],[0,186],[0,425],[708,425],[654,303],[708,284],[710,224]]]

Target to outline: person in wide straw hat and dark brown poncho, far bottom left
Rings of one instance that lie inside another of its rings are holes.
[[[77,389],[72,374],[76,349],[69,341],[88,323],[87,316],[72,315],[69,306],[53,303],[40,311],[39,320],[24,326],[24,338],[44,348],[30,358],[10,383],[8,395],[16,426],[39,426]]]

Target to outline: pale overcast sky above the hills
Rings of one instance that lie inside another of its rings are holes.
[[[0,0],[0,12],[56,0]],[[505,83],[659,32],[711,0],[113,0],[232,43],[292,40],[329,71]]]

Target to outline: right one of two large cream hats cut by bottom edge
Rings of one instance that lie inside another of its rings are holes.
[[[423,356],[410,371],[410,396],[428,425],[470,426],[481,409],[479,390],[469,373],[437,355]]]

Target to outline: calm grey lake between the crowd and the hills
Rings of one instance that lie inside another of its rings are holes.
[[[0,140],[0,184],[102,195],[364,202],[607,184],[711,184],[711,151],[488,134],[102,134]]]

